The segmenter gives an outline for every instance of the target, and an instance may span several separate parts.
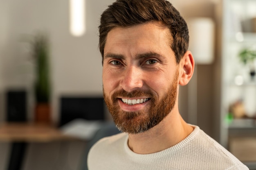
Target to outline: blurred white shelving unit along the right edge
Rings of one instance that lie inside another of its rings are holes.
[[[222,15],[220,144],[234,151],[238,148],[231,147],[243,139],[240,144],[253,144],[255,149],[248,152],[256,155],[256,76],[250,76],[249,66],[238,57],[244,48],[256,50],[256,0],[222,0]],[[256,168],[256,157],[243,162]]]

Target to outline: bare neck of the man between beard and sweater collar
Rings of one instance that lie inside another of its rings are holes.
[[[179,143],[192,131],[193,127],[182,119],[180,113],[173,114],[172,111],[150,130],[139,134],[129,134],[128,146],[135,153],[156,153]]]

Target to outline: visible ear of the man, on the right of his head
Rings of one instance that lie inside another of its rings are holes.
[[[193,76],[195,68],[195,61],[190,51],[187,51],[180,61],[180,85],[186,85],[189,83]]]

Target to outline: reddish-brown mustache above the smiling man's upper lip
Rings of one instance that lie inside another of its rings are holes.
[[[113,93],[112,99],[116,99],[117,97],[124,97],[124,98],[136,98],[136,97],[147,97],[147,98],[155,98],[155,94],[150,90],[141,90],[137,89],[132,92],[126,92],[124,89],[120,89]]]

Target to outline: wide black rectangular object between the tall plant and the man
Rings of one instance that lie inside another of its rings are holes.
[[[74,119],[105,120],[103,97],[72,97],[60,99],[60,123],[62,126]]]

